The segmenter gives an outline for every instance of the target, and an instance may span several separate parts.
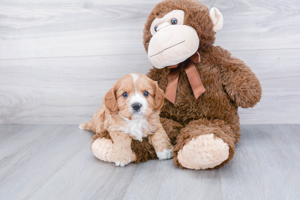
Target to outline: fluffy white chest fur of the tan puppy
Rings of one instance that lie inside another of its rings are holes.
[[[126,123],[118,130],[130,135],[133,140],[142,141],[143,137],[146,137],[146,135],[144,135],[144,131],[149,128],[147,119],[141,118],[129,120],[128,118],[124,117],[123,119],[126,121]]]

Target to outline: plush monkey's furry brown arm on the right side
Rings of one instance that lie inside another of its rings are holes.
[[[236,105],[242,108],[254,107],[261,99],[261,84],[256,75],[226,49],[216,49],[221,53],[218,60],[226,92]]]

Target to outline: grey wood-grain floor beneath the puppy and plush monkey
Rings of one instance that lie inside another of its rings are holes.
[[[77,125],[0,125],[0,199],[299,199],[300,125],[242,125],[221,169],[172,160],[125,167],[90,150]]]

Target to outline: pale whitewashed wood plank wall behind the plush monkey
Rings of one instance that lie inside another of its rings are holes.
[[[152,67],[142,44],[154,0],[1,0],[0,123],[78,124],[118,78]],[[220,45],[244,60],[263,96],[242,124],[300,123],[300,1],[203,1]]]

